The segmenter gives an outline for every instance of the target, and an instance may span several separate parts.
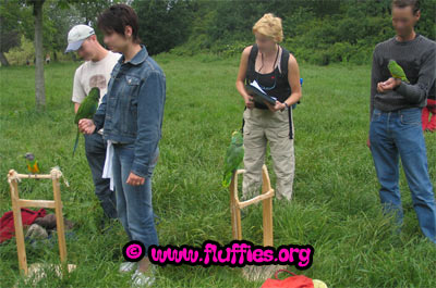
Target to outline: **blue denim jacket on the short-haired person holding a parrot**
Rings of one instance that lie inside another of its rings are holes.
[[[113,67],[94,123],[96,130],[105,128],[105,140],[134,145],[132,172],[145,177],[161,137],[166,76],[144,46],[123,62],[124,55]]]

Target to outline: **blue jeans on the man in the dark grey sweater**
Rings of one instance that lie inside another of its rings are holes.
[[[399,189],[399,158],[401,158],[421,230],[436,242],[436,204],[428,175],[421,110],[413,108],[382,112],[375,109],[371,120],[370,141],[382,186],[379,195],[384,212],[393,214],[397,223],[402,224]]]

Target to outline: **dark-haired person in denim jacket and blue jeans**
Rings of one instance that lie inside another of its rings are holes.
[[[137,15],[125,4],[112,5],[98,17],[105,43],[122,53],[113,67],[94,120],[81,120],[80,129],[89,134],[104,127],[104,138],[112,143],[112,173],[118,216],[130,238],[145,246],[145,256],[133,275],[134,284],[149,285],[147,250],[158,245],[152,205],[152,175],[159,154],[166,77],[159,65],[140,45]],[[126,263],[123,263],[126,264]],[[131,271],[125,265],[122,271]]]

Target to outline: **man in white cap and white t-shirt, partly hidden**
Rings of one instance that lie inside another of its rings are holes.
[[[74,26],[68,35],[66,52],[76,51],[78,57],[85,60],[74,75],[73,98],[74,112],[89,93],[90,89],[100,89],[100,102],[106,95],[108,83],[113,66],[121,54],[106,50],[97,40],[92,27],[87,25]],[[102,139],[102,132],[85,135],[85,152],[88,160],[95,193],[100,201],[105,215],[109,218],[117,217],[116,193],[110,190],[110,180],[102,178],[102,170],[106,160],[107,142]]]

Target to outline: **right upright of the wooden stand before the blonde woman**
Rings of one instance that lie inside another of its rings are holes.
[[[264,165],[262,167],[262,193],[266,193],[271,190],[271,183],[268,176],[268,170]],[[262,201],[263,205],[263,222],[264,222],[264,246],[274,246],[272,236],[272,197],[269,197]]]

